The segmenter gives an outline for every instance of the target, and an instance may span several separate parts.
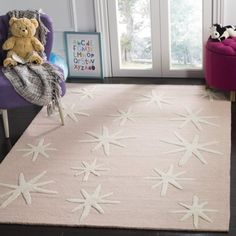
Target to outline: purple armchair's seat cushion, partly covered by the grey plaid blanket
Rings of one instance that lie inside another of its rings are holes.
[[[61,82],[62,96],[66,92],[65,82]],[[14,89],[9,80],[2,72],[2,66],[0,66],[0,109],[11,109],[16,107],[22,107],[32,105],[21,97]]]

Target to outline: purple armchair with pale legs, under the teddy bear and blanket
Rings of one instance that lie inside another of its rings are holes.
[[[41,21],[50,31],[47,34],[47,43],[45,45],[45,53],[47,55],[47,58],[49,58],[53,43],[52,21],[45,14],[41,15]],[[9,16],[8,15],[0,16],[0,111],[2,112],[3,125],[6,138],[9,138],[7,110],[31,105],[30,102],[26,101],[23,97],[18,95],[18,93],[14,90],[9,80],[2,73],[3,60],[6,58],[6,52],[2,50],[2,45],[8,37],[8,28],[9,28]],[[66,90],[65,82],[61,82],[60,85],[62,88],[62,96],[63,96]],[[64,124],[64,119],[60,108],[59,111],[61,115],[62,124]]]

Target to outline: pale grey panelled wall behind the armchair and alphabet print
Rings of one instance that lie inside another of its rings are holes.
[[[0,14],[14,9],[42,9],[54,23],[53,51],[64,56],[63,31],[95,31],[93,0],[0,0]],[[12,7],[14,6],[14,7]]]

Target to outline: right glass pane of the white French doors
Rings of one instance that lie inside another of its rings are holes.
[[[169,0],[171,69],[202,69],[202,0]]]

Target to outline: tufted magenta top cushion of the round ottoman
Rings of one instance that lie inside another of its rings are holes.
[[[207,49],[226,56],[236,56],[236,37],[227,38],[222,42],[207,41]]]

